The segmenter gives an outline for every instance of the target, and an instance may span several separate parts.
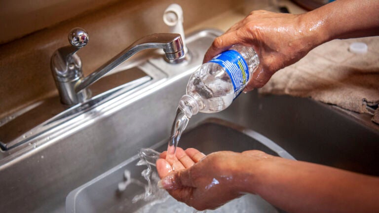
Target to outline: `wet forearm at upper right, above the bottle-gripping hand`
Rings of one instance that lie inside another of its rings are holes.
[[[378,0],[336,0],[303,14],[304,31],[312,32],[323,43],[343,39],[379,35]]]

